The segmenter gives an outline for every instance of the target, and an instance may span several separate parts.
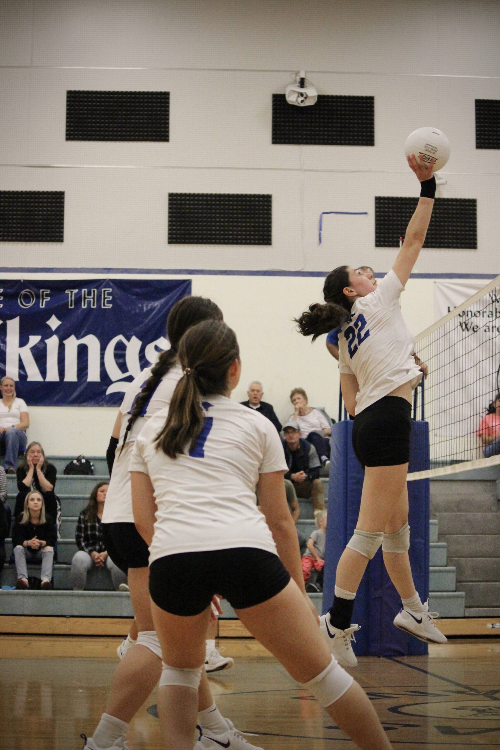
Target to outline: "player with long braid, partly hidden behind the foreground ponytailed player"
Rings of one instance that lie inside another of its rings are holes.
[[[161,649],[151,619],[148,593],[149,552],[133,523],[128,465],[142,426],[151,414],[169,404],[175,386],[182,377],[177,362],[177,346],[181,336],[190,326],[211,318],[222,320],[222,312],[210,299],[184,297],[173,306],[166,324],[170,349],[160,354],[152,369],[142,371],[130,383],[115,422],[114,437],[106,454],[111,480],[103,514],[103,535],[112,561],[128,575],[130,599],[136,618],[134,622],[139,634],[133,648],[123,649],[120,646],[118,649],[123,661],[113,677],[106,711],[94,735],[88,739],[82,735],[85,739],[84,750],[127,750],[125,736],[128,724],[160,679]],[[129,419],[130,413],[132,416]],[[118,434],[122,449],[116,451]],[[115,451],[118,455],[113,463]],[[127,645],[132,645],[130,638]],[[220,714],[211,695],[205,670],[202,670],[199,685],[198,708],[197,721],[205,730],[207,748],[217,750],[222,744],[229,750],[260,750],[241,737],[232,722]],[[208,739],[210,737],[214,739]]]

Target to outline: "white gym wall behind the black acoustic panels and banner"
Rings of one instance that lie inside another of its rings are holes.
[[[475,98],[500,98],[499,37],[500,4],[484,0],[0,0],[0,190],[65,191],[64,244],[1,243],[2,277],[340,263],[386,272],[395,251],[375,248],[374,196],[418,195],[403,143],[424,124],[451,140],[438,194],[478,200],[478,250],[424,250],[415,270],[495,275],[500,151],[475,149]],[[375,97],[374,147],[271,144],[271,95],[298,68],[320,94]],[[170,141],[67,142],[67,89],[169,91]],[[272,193],[273,245],[168,245],[175,191]],[[369,215],[325,216],[319,245],[319,214],[334,210]],[[238,333],[237,398],[262,380],[284,419],[300,385],[336,416],[337,367],[291,322],[321,299],[321,278],[185,277]],[[415,333],[433,305],[432,278],[410,281],[403,311]],[[30,411],[30,439],[59,454],[103,453],[115,415]]]

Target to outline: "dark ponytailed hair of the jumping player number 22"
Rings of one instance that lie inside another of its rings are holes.
[[[325,305],[315,302],[309,309],[294,318],[298,331],[303,336],[312,336],[313,341],[324,333],[342,326],[349,317],[354,302],[343,293],[349,287],[349,266],[338,266],[325,278],[323,296]]]

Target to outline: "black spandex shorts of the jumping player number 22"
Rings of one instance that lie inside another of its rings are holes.
[[[400,396],[384,396],[357,414],[352,447],[365,466],[397,466],[410,460],[412,407]]]

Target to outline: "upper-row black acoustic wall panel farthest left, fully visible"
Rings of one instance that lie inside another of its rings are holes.
[[[66,92],[66,140],[168,141],[169,92]]]

